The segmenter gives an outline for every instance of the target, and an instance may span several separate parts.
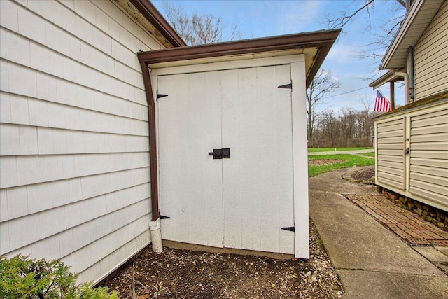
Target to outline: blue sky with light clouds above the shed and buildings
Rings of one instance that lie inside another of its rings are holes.
[[[165,16],[163,1],[152,0],[156,8]],[[221,17],[223,22],[237,24],[243,39],[260,38],[265,36],[277,36],[283,34],[295,34],[300,32],[313,32],[328,29],[325,23],[327,15],[341,15],[342,11],[355,11],[365,4],[363,0],[299,0],[299,1],[172,1],[181,4],[186,13],[203,14],[211,13]],[[395,6],[393,6],[395,5]],[[370,104],[372,111],[376,91],[368,85],[380,76],[378,72],[381,58],[377,60],[360,60],[356,55],[376,39],[374,34],[367,32],[367,25],[373,27],[383,25],[391,16],[400,12],[393,11],[396,7],[395,0],[376,0],[374,9],[370,13],[370,22],[366,13],[358,15],[344,26],[339,39],[332,46],[322,68],[329,69],[335,80],[341,85],[340,88],[328,94],[316,111],[333,109],[335,112],[344,108],[356,110],[365,109],[363,102]],[[401,11],[401,13],[404,13]],[[377,32],[379,33],[379,29]],[[225,30],[223,39],[229,30]],[[383,50],[384,53],[384,50]],[[382,53],[381,53],[382,55]],[[384,74],[384,71],[383,73]],[[371,80],[366,80],[371,78]],[[388,97],[388,85],[380,88],[381,92]],[[395,105],[404,104],[404,88],[395,88]]]

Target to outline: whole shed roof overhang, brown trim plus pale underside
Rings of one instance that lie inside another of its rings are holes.
[[[139,61],[151,68],[160,68],[226,60],[304,54],[308,88],[330,51],[332,44],[335,43],[339,32],[340,29],[332,29],[271,36],[261,39],[154,50],[139,53]]]

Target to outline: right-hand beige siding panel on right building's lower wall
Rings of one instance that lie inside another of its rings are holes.
[[[409,192],[448,206],[448,109],[411,117]]]

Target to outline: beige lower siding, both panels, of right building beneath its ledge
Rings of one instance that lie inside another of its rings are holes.
[[[404,130],[399,129],[402,124],[405,125]],[[381,125],[391,129],[394,125],[397,127],[396,130],[383,132]],[[380,117],[375,120],[375,127],[379,147],[376,183],[400,195],[448,211],[448,98]],[[381,144],[397,149],[381,151]],[[398,151],[398,148],[402,150]],[[409,148],[408,155],[403,151],[405,148]]]

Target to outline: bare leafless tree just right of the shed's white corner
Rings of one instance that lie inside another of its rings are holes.
[[[313,146],[313,130],[318,118],[316,106],[322,102],[323,97],[339,88],[339,82],[331,76],[330,70],[320,69],[307,90],[307,116],[308,116],[308,141]]]

